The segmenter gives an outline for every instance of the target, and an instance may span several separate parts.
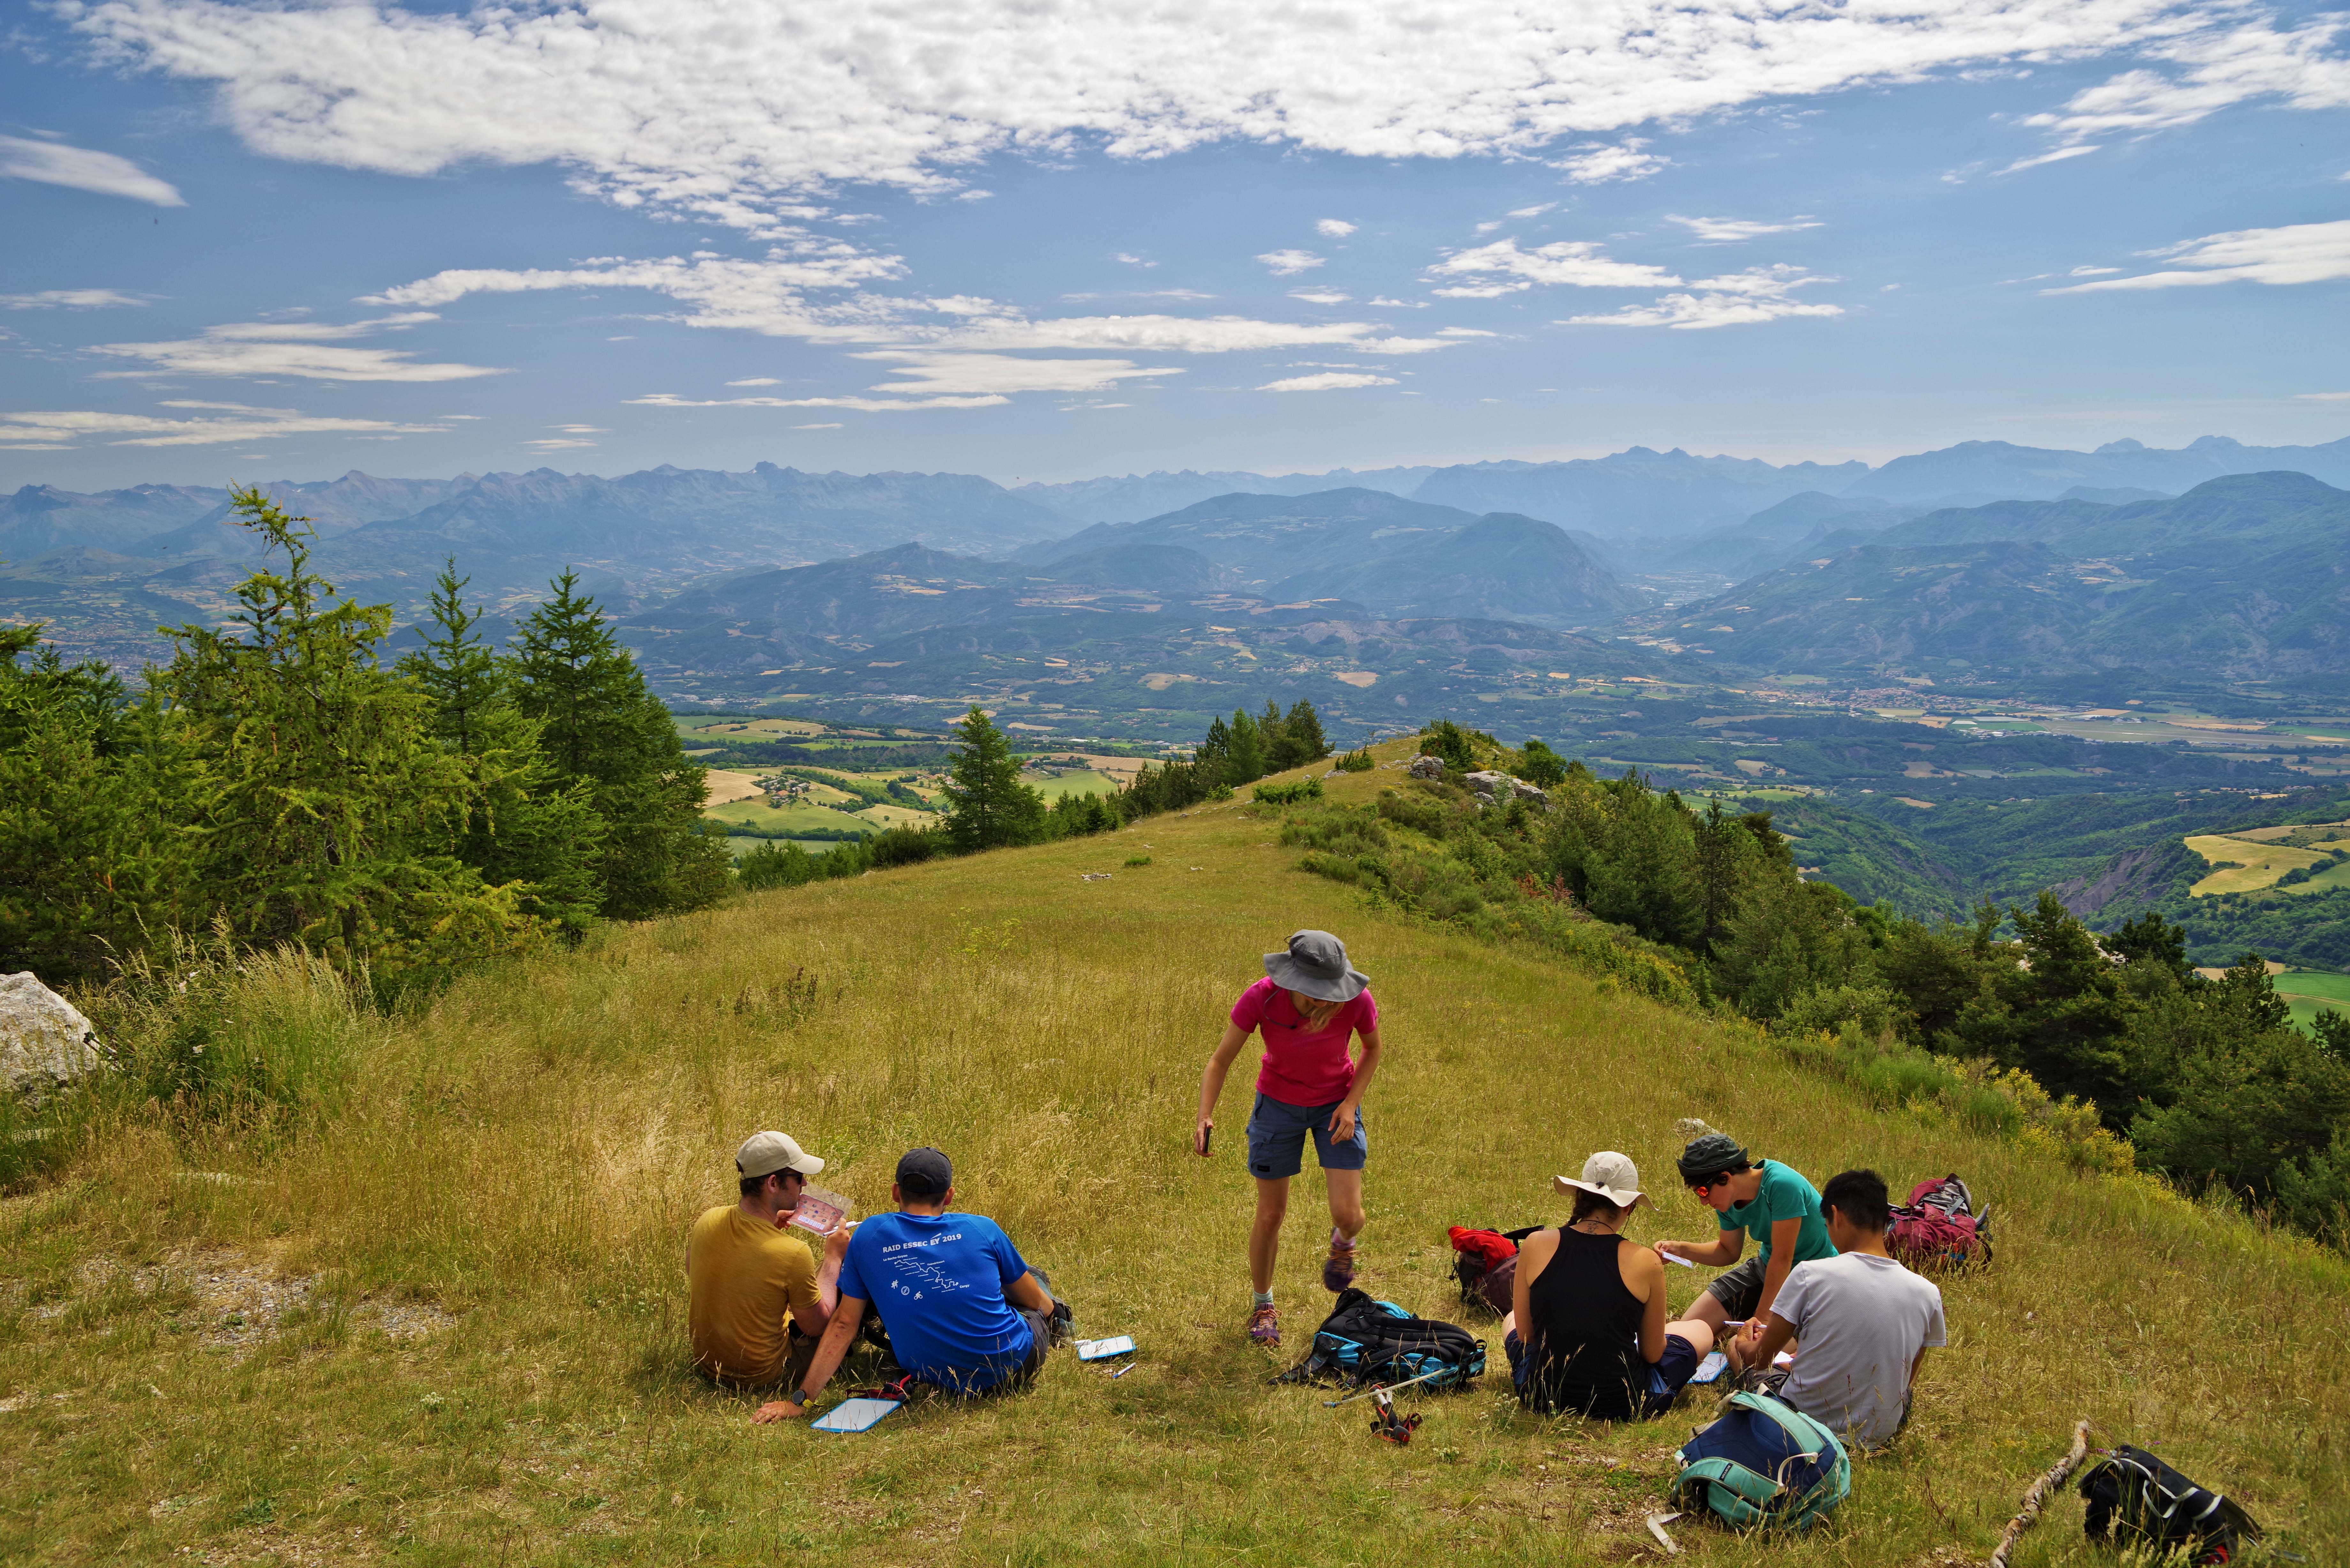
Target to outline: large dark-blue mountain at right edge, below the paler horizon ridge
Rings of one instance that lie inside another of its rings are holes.
[[[2301,473],[1943,510],[1864,541],[1739,583],[1671,635],[1777,670],[2350,672],[2350,491]]]

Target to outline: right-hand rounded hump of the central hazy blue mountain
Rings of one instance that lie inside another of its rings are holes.
[[[1354,599],[1382,616],[1551,625],[1614,621],[1645,602],[1558,524],[1509,512],[1417,534],[1368,559],[1300,571],[1274,583],[1269,595],[1278,602]]]

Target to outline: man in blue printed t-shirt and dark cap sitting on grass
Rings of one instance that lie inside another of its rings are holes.
[[[808,1375],[790,1399],[761,1406],[759,1422],[806,1415],[848,1354],[865,1302],[881,1312],[891,1354],[921,1382],[949,1394],[987,1394],[1027,1382],[1050,1345],[1053,1295],[1010,1237],[975,1213],[947,1213],[954,1166],[938,1150],[898,1161],[898,1213],[858,1225],[841,1262],[839,1307]]]

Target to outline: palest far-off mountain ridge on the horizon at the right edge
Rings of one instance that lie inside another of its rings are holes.
[[[2096,451],[2047,451],[2009,442],[1960,442],[1941,451],[1894,458],[1847,496],[1981,505],[1986,501],[2047,501],[2073,487],[2153,489],[2167,496],[2232,473],[2294,470],[2326,484],[2350,484],[2350,437],[2324,447],[2247,447],[2204,435],[2181,449],[2106,442]]]

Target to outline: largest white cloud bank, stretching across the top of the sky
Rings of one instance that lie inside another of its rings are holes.
[[[2244,99],[2338,106],[2338,16],[2280,26],[2195,0],[1462,0],[1419,7],[400,9],[94,0],[101,59],[214,82],[251,148],[395,174],[559,162],[590,190],[717,223],[792,219],[844,181],[952,188],[989,153],[1210,141],[1356,158],[1528,155],[1574,181],[1661,167],[1640,125],[1998,66],[2131,56],[2049,129],[2178,125]]]

